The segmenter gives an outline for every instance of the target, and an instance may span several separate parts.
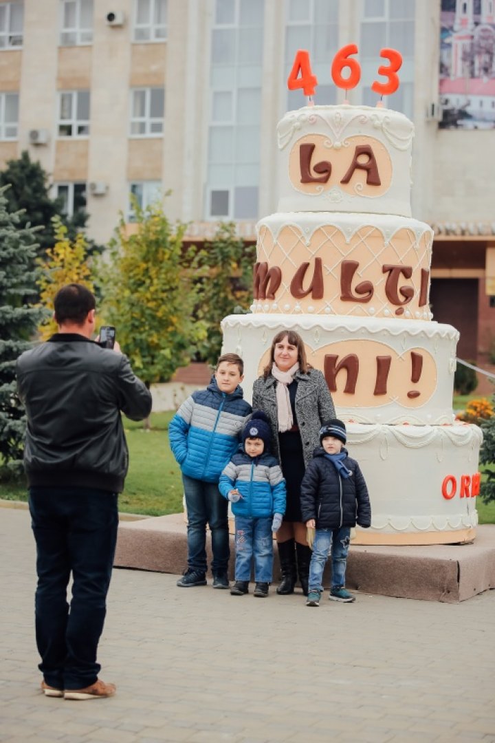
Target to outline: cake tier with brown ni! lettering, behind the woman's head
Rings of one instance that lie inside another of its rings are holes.
[[[293,329],[309,363],[323,371],[338,418],[363,424],[451,424],[459,333],[451,325],[403,319],[229,315],[223,353],[244,360],[243,389],[269,361],[272,339]]]

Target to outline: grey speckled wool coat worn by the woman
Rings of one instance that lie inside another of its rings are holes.
[[[295,415],[301,435],[304,464],[307,467],[312,458],[312,452],[320,445],[318,432],[321,424],[335,418],[335,408],[321,371],[309,369],[307,374],[296,371],[295,379],[298,381],[298,389],[295,393]],[[263,410],[268,416],[272,428],[272,452],[280,461],[275,383],[276,380],[272,374],[269,374],[266,379],[258,377],[255,380],[252,387],[252,409]]]

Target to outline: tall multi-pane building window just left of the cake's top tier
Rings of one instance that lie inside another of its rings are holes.
[[[207,219],[258,217],[264,0],[216,0]]]

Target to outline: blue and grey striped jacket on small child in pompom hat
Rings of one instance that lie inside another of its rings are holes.
[[[232,503],[234,516],[263,518],[285,513],[286,489],[282,470],[272,454],[249,457],[238,452],[223,470],[218,484],[224,498],[237,488],[242,498]]]

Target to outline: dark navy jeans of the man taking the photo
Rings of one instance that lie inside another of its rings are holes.
[[[31,487],[36,539],[39,670],[56,689],[94,684],[119,513],[117,493],[90,487]],[[73,577],[71,608],[67,586]]]

